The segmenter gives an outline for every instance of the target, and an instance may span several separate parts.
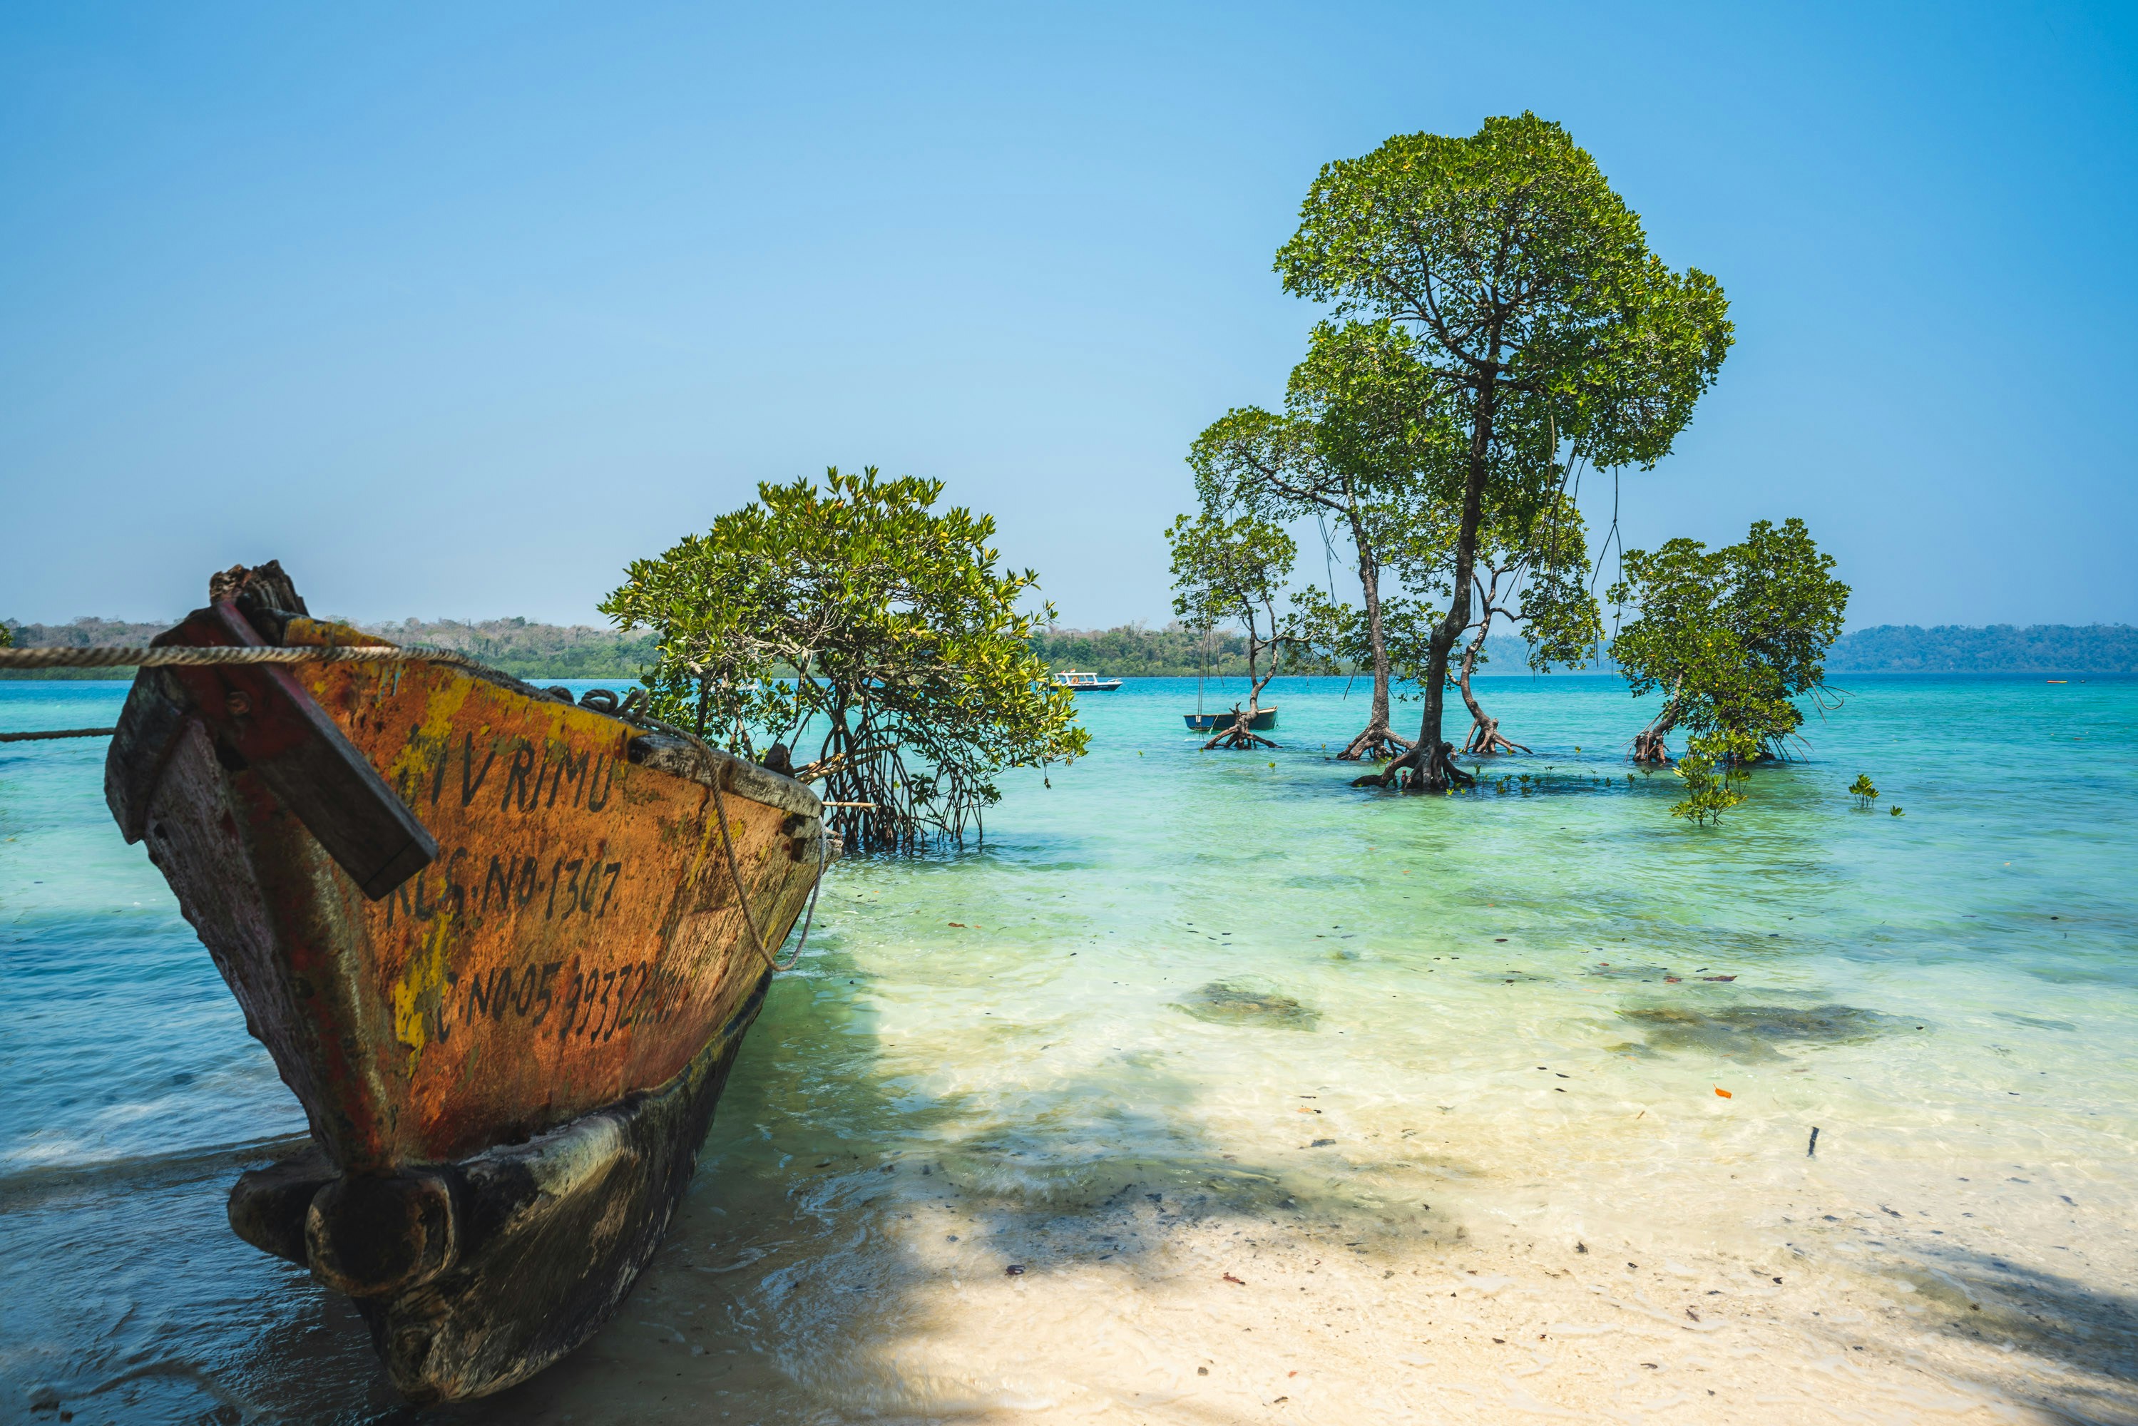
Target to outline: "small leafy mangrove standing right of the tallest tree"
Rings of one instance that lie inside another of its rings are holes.
[[[1627,549],[1610,599],[1636,616],[1610,652],[1636,697],[1666,693],[1651,733],[1730,729],[1779,755],[1804,720],[1792,699],[1824,688],[1824,654],[1841,635],[1849,586],[1832,567],[1802,520],[1760,520],[1721,549],[1695,539]]]

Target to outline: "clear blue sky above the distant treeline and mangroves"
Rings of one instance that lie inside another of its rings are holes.
[[[2134,98],[2132,4],[9,4],[0,616],[278,556],[592,622],[877,464],[1063,622],[1163,622],[1317,167],[1535,109],[1732,299],[1629,543],[1802,515],[1858,626],[2138,622]]]

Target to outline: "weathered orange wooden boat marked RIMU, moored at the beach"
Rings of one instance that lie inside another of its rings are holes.
[[[156,644],[385,641],[267,564]],[[113,817],[312,1131],[231,1227],[355,1298],[419,1402],[618,1306],[823,870],[806,787],[614,703],[449,663],[145,667],[111,740]]]

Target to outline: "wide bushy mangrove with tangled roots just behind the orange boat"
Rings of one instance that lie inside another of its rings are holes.
[[[1075,695],[1028,639],[1033,571],[996,571],[994,520],[936,513],[941,481],[827,470],[823,485],[759,485],[757,500],[635,560],[601,605],[646,626],[656,716],[755,757],[753,729],[821,729],[797,776],[821,780],[849,847],[964,840],[1005,768],[1086,750]],[[791,669],[793,680],[780,680]]]

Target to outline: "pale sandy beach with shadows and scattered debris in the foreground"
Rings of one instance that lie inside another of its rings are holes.
[[[2057,1214],[2020,1184],[1715,1159],[1687,1189],[1736,1165],[1736,1212],[1629,1214],[1580,1182],[1507,1202],[1420,1137],[1293,1174],[1150,1163],[1052,1212],[911,1159],[697,1195],[618,1323],[483,1415],[2138,1420],[2125,1308],[2057,1272],[2127,1278],[2114,1225],[2072,1208],[2070,1261],[2029,1261],[1995,1225]]]

